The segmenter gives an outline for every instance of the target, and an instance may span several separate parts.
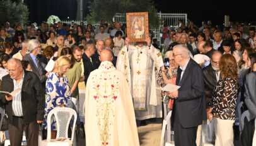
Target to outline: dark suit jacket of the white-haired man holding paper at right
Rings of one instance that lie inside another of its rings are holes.
[[[182,80],[178,81],[181,73],[182,70],[178,68],[176,83],[181,87],[178,89],[178,98],[175,100],[172,119],[175,120],[174,117],[177,114],[182,127],[197,127],[202,124],[202,120],[206,120],[202,69],[194,60],[190,59]]]

